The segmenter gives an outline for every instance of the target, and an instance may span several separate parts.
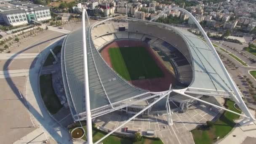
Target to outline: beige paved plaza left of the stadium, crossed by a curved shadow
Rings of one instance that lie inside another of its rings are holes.
[[[39,114],[42,113],[40,111],[45,111],[45,109],[42,109],[43,107],[36,109],[35,106],[42,103],[42,101],[40,99],[31,101],[32,99],[28,97],[28,87],[31,87],[29,81],[32,80],[32,76],[35,75],[35,77],[38,77],[38,68],[40,68],[40,61],[42,61],[44,56],[41,55],[43,53],[39,53],[44,51],[49,44],[63,36],[63,33],[50,30],[44,31],[38,33],[36,36],[21,40],[19,46],[10,49],[11,53],[0,54],[0,88],[2,93],[4,93],[0,100],[0,109],[1,113],[5,114],[0,120],[0,123],[4,123],[4,125],[0,125],[0,128],[5,130],[0,132],[1,144],[11,144],[22,139],[27,139],[26,142],[29,142],[37,138],[38,132],[35,130],[39,127],[41,133],[44,133],[44,136],[40,135],[39,137],[42,140],[49,138],[49,132],[44,128],[45,125],[42,126],[42,123],[38,122],[40,119],[35,115],[35,112]],[[33,91],[36,90],[34,89]],[[34,92],[31,94],[35,98]],[[42,116],[51,119],[50,117],[46,117],[46,115],[48,115],[47,112]],[[52,124],[50,125],[52,128],[59,127],[56,123]]]

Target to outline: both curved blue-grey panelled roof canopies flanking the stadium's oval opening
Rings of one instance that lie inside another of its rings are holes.
[[[92,117],[168,93],[168,91],[151,92],[131,85],[101,58],[100,53],[93,44],[91,30],[96,25],[110,19],[88,25],[85,32]],[[232,81],[229,80],[229,75],[225,73],[226,69],[223,67],[222,62],[219,61],[216,51],[210,48],[207,43],[185,29],[153,21],[131,20],[155,24],[159,27],[164,26],[176,31],[183,37],[189,48],[193,69],[193,80],[189,87],[183,90],[185,93],[233,96],[234,98]],[[75,120],[84,120],[86,117],[82,35],[82,28],[71,32],[65,38],[61,50],[64,87],[69,107]]]

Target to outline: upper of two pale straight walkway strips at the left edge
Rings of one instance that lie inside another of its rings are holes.
[[[0,53],[0,59],[30,59],[38,57],[39,53]]]

